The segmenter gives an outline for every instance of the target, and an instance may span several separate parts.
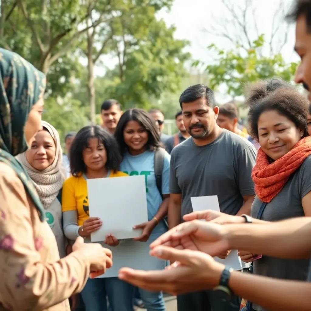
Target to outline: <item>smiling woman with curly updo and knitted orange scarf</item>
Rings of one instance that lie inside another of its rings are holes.
[[[253,222],[261,209],[265,221],[311,216],[309,101],[290,84],[272,79],[250,86],[247,102],[250,132],[260,144],[252,172]],[[254,259],[249,252],[239,254],[244,262]],[[309,260],[262,256],[253,267],[261,276],[304,281]],[[253,310],[267,311],[255,304]]]

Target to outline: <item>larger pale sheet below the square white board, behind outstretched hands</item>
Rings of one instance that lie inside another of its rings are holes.
[[[98,278],[118,276],[119,270],[123,267],[136,270],[163,270],[165,268],[164,260],[149,255],[150,243],[148,242],[125,240],[115,247],[101,244],[112,251],[114,264]]]

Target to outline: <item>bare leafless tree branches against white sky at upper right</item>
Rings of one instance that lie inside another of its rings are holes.
[[[239,46],[247,51],[253,46],[261,32],[258,26],[258,8],[260,2],[254,0],[220,0],[223,6],[221,16],[214,16],[203,29],[209,35],[225,39],[232,47]],[[264,45],[257,49],[258,54],[272,57],[281,53],[288,39],[289,24],[284,16],[286,1],[273,1],[272,19],[269,17],[270,34],[266,35]]]

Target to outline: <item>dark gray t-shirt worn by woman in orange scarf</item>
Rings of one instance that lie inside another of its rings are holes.
[[[311,156],[290,176],[283,189],[265,207],[262,220],[277,221],[304,216],[302,198],[311,191]],[[257,218],[262,202],[255,198],[251,216]],[[277,279],[305,281],[309,269],[309,259],[280,259],[269,256],[254,262],[254,273]],[[311,275],[310,275],[311,276]],[[254,310],[267,311],[258,305]]]

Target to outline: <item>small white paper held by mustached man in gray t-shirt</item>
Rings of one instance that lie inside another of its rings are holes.
[[[192,197],[191,204],[193,211],[220,211],[218,197],[216,195],[205,197]],[[226,259],[214,257],[217,262],[223,263],[226,266],[232,267],[234,270],[241,270],[241,258],[238,256],[237,250],[232,250]]]

